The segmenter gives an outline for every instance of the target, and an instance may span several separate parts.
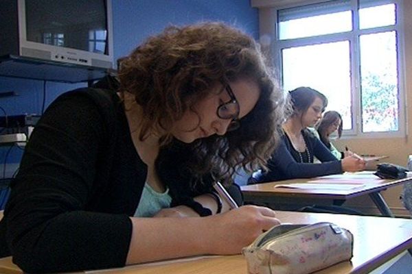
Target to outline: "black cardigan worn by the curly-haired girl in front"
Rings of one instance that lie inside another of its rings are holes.
[[[106,84],[61,95],[36,125],[0,221],[0,258],[30,273],[124,266],[133,216],[147,166],[135,151],[122,103]],[[159,154],[157,170],[172,206],[201,215],[192,197],[210,191],[189,186],[176,163],[185,145]],[[181,158],[181,159],[179,159]]]

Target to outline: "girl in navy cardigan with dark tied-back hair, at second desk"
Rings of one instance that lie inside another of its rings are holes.
[[[300,87],[289,92],[292,114],[282,125],[283,142],[268,161],[268,171],[253,173],[249,183],[307,178],[361,171],[365,161],[354,156],[336,160],[319,138],[309,132],[325,110],[328,100],[319,91]],[[321,163],[313,163],[316,157]]]

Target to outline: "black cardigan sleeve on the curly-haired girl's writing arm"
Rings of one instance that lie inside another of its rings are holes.
[[[28,273],[124,266],[132,224],[87,210],[109,140],[101,108],[80,92],[49,106],[25,147],[5,208],[6,239]],[[97,190],[98,191],[98,190]]]

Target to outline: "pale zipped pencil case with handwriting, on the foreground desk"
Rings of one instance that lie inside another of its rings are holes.
[[[242,250],[249,274],[307,274],[353,256],[353,235],[333,223],[277,225]]]

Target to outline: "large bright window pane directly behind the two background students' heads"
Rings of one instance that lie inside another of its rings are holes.
[[[319,90],[328,97],[327,110],[339,112],[344,129],[352,129],[349,41],[283,49],[282,62],[285,90]]]

